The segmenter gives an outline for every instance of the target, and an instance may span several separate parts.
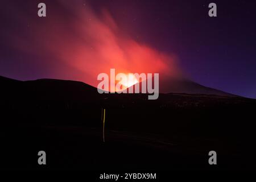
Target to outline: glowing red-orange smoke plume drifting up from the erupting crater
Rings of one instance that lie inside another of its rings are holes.
[[[34,64],[51,67],[48,77],[97,87],[97,75],[109,73],[110,68],[117,73],[159,73],[160,79],[162,75],[179,74],[174,55],[138,43],[121,32],[108,11],[96,14],[79,1],[72,6],[62,3],[69,11],[67,17],[62,10],[48,11],[46,19],[31,23],[26,38],[17,35],[14,39],[20,51],[44,57]]]

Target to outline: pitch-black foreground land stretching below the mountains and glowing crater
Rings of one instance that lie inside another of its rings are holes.
[[[256,169],[255,100],[174,93],[147,100],[47,79],[0,84],[1,169]],[[38,164],[41,150],[46,166]]]

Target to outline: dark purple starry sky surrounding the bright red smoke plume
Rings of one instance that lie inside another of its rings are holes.
[[[37,16],[39,2],[47,5],[45,19]],[[64,2],[66,5],[73,5],[73,1]],[[210,2],[217,4],[215,18],[208,16]],[[84,1],[81,6],[90,6],[96,14],[102,9],[108,11],[121,34],[129,36],[138,44],[146,44],[154,50],[176,55],[179,67],[191,80],[225,92],[256,98],[255,1],[104,0]],[[46,31],[47,28],[52,28],[47,21],[54,23],[68,19],[69,26],[63,28],[72,27],[76,22],[76,15],[67,7],[60,6],[58,1],[1,2],[0,75],[29,80],[56,78],[56,75],[61,74],[56,69],[58,62],[54,62],[51,54],[36,48],[36,41],[30,34],[33,34],[32,31],[39,31],[38,27],[41,34],[44,34],[44,28]],[[52,16],[55,11],[60,16]],[[70,34],[76,34],[72,31]],[[58,34],[57,31],[55,33]],[[43,39],[47,39],[47,36],[48,34],[42,35]],[[19,42],[24,40],[27,44],[22,44],[24,48],[20,48],[22,46]],[[34,64],[34,60],[42,61]],[[44,64],[44,60],[50,60],[52,64]],[[68,69],[68,66],[66,68],[61,65],[61,70],[67,72]],[[76,78],[82,73],[78,70],[72,74],[71,77]],[[66,77],[68,78],[68,73]]]

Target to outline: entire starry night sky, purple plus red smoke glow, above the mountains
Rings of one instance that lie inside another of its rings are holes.
[[[47,17],[38,17],[38,3]],[[217,17],[208,5],[217,4]],[[1,1],[0,75],[159,72],[256,98],[255,1]]]

